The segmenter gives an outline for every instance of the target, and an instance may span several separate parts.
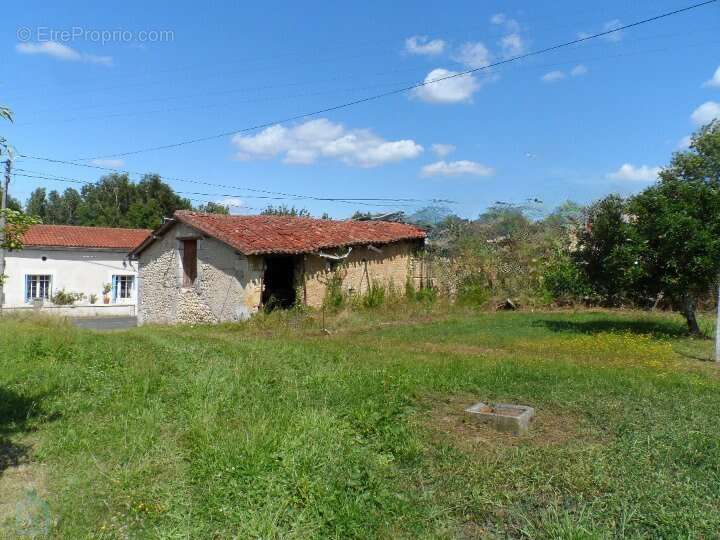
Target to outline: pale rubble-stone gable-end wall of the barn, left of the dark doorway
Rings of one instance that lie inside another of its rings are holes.
[[[198,273],[182,286],[182,238],[198,239]],[[138,322],[210,323],[249,317],[260,305],[263,261],[177,224],[140,255]]]

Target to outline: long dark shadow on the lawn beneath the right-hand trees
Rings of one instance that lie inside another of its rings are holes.
[[[543,326],[553,332],[569,332],[573,334],[633,333],[649,334],[654,337],[686,338],[689,337],[685,325],[674,321],[647,320],[608,320],[568,321],[541,319],[533,325]]]

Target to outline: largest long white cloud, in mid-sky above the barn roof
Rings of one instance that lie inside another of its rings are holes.
[[[386,141],[369,129],[348,130],[325,118],[293,127],[271,126],[257,135],[237,134],[232,138],[241,160],[270,159],[308,165],[320,158],[338,159],[347,165],[376,167],[393,161],[413,159],[423,147],[413,140]]]

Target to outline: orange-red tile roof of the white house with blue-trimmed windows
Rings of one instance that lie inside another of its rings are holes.
[[[142,243],[152,231],[75,225],[33,225],[23,235],[25,247],[86,247],[130,250]]]

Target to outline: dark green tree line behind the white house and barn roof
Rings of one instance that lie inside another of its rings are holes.
[[[179,196],[156,174],[135,183],[127,174],[110,174],[80,191],[62,193],[37,188],[25,204],[25,212],[53,225],[90,225],[154,229],[175,210],[193,209],[189,199]],[[208,202],[195,210],[229,213],[228,207]]]

